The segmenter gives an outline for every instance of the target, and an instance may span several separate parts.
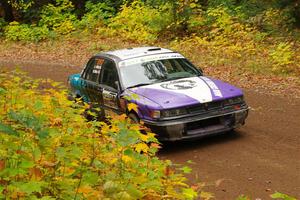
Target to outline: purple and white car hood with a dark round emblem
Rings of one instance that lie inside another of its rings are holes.
[[[159,104],[163,109],[218,101],[243,94],[228,83],[205,76],[166,81],[131,88],[130,91]]]

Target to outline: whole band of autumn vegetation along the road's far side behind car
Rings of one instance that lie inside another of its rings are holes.
[[[10,1],[2,38],[37,43],[62,38],[117,38],[164,44],[200,66],[299,76],[297,1]],[[8,17],[10,16],[10,17]],[[95,50],[101,50],[94,46]],[[108,47],[111,48],[111,47]]]

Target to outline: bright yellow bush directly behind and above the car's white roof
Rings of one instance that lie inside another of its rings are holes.
[[[168,5],[153,8],[141,1],[123,5],[122,10],[111,20],[109,27],[122,36],[138,41],[154,41],[171,23]]]

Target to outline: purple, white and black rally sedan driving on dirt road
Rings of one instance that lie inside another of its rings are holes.
[[[128,48],[93,56],[69,76],[70,97],[99,107],[100,116],[126,113],[160,140],[186,140],[245,123],[240,89],[203,75],[181,54],[158,47]],[[138,105],[138,112],[128,109]]]

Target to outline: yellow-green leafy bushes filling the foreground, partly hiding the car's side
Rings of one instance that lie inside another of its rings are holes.
[[[86,121],[88,105],[66,100],[59,88],[1,73],[1,199],[196,198],[181,174],[190,169],[155,156],[153,133],[140,133],[125,116]]]

